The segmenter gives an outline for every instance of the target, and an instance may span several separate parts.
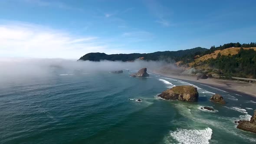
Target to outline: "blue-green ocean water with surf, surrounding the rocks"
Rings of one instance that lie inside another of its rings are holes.
[[[161,75],[55,71],[38,79],[0,84],[0,143],[255,144],[256,134],[236,129],[249,120],[256,98]],[[199,101],[157,97],[193,85]],[[226,105],[209,101],[218,93]],[[141,99],[141,102],[136,101]],[[214,112],[202,110],[207,106]]]

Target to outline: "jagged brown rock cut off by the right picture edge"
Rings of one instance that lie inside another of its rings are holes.
[[[254,114],[250,121],[239,121],[239,124],[236,128],[256,133],[256,110],[254,111]]]

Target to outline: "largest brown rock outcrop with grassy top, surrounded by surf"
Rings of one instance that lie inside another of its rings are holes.
[[[175,86],[158,96],[167,100],[198,101],[197,88],[190,85]]]

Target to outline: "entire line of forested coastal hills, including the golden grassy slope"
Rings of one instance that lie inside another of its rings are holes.
[[[210,49],[197,47],[179,51],[165,51],[153,53],[112,54],[88,53],[79,60],[89,61],[134,61],[164,60],[175,63],[183,68],[194,67],[199,72],[216,74],[224,78],[232,76],[256,79],[256,43],[227,43],[223,46],[211,46]],[[217,71],[216,71],[217,69]]]

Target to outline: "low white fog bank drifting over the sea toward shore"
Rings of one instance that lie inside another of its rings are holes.
[[[176,66],[163,61],[112,62],[112,61],[76,61],[68,59],[0,59],[0,82],[18,79],[34,79],[56,75],[56,71],[98,72],[115,70],[139,70],[146,67],[148,71],[168,66]]]

